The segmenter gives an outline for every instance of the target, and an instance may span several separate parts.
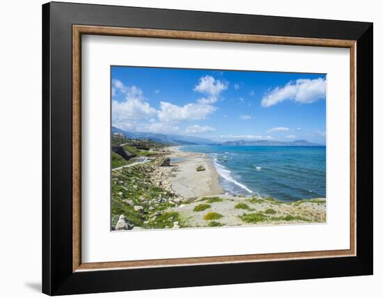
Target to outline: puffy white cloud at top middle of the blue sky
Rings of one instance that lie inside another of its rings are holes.
[[[228,82],[214,79],[209,75],[201,77],[199,83],[194,87],[194,91],[205,94],[198,100],[201,104],[213,104],[219,100],[219,95],[222,91],[228,88]]]

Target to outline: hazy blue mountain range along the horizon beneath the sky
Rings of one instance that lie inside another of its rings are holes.
[[[155,134],[152,132],[125,132],[112,126],[111,132],[118,132],[129,139],[151,139],[158,143],[169,145],[227,145],[227,146],[322,146],[318,143],[311,143],[306,140],[296,140],[290,142],[257,140],[257,141],[224,141],[217,142],[210,139],[199,138],[197,136],[182,136],[178,134]]]

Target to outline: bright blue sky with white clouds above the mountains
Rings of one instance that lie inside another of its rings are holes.
[[[112,125],[214,140],[325,143],[326,76],[111,67]]]

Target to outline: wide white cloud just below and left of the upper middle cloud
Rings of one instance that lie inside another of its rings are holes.
[[[210,104],[190,103],[180,107],[170,102],[160,102],[161,109],[157,116],[162,122],[179,122],[183,120],[202,120],[217,108]]]

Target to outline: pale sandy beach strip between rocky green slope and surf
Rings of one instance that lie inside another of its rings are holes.
[[[179,151],[178,148],[169,147],[169,153],[166,154],[175,159],[171,162],[174,167],[167,177],[173,191],[184,198],[224,194],[224,189],[219,185],[219,174],[209,157],[199,152]],[[196,171],[198,166],[203,166],[205,171]]]

